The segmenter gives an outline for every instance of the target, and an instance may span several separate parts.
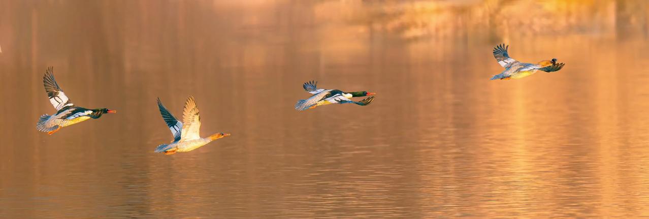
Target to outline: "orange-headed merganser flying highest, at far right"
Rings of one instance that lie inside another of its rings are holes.
[[[493,57],[498,60],[498,64],[505,68],[505,70],[498,75],[494,75],[491,80],[520,79],[523,77],[528,77],[533,73],[536,73],[536,71],[538,70],[550,72],[559,71],[561,68],[563,68],[564,64],[557,63],[556,58],[552,58],[552,60],[543,60],[541,62],[538,62],[537,64],[519,62],[509,57],[509,54],[507,54],[508,48],[509,45],[502,44],[497,45],[493,49]]]

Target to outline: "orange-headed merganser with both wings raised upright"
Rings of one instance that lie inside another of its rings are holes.
[[[197,107],[196,101],[194,101],[194,97],[192,96],[188,97],[187,102],[185,103],[185,109],[182,112],[182,122],[178,121],[178,119],[173,116],[164,105],[162,105],[160,98],[158,98],[158,109],[160,109],[162,119],[164,119],[164,122],[167,123],[169,129],[171,129],[173,141],[171,144],[160,144],[160,146],[154,150],[156,153],[171,155],[176,152],[187,152],[201,148],[201,146],[204,146],[213,140],[230,136],[230,134],[227,133],[216,133],[207,138],[201,138],[201,135],[199,135],[201,129],[199,107]]]

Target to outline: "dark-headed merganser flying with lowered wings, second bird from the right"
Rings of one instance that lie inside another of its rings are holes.
[[[359,91],[359,92],[343,92],[341,90],[325,90],[318,89],[316,87],[317,81],[309,81],[304,83],[302,87],[306,92],[313,94],[309,99],[300,99],[295,103],[295,109],[297,110],[306,110],[313,109],[321,105],[329,105],[332,103],[356,103],[361,106],[369,105],[374,100],[374,97],[365,98],[361,101],[352,101],[351,97],[364,97],[369,95],[374,95],[376,93]]]

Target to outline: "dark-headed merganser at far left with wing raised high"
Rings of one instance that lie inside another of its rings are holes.
[[[66,94],[61,90],[54,79],[53,68],[47,68],[43,76],[43,85],[45,92],[49,97],[49,102],[54,105],[56,113],[52,116],[48,114],[42,115],[36,123],[38,131],[47,132],[52,135],[58,129],[73,125],[79,122],[84,122],[90,118],[97,119],[104,113],[115,113],[115,110],[106,108],[101,109],[85,109],[83,107],[75,107],[75,105],[67,98]]]

